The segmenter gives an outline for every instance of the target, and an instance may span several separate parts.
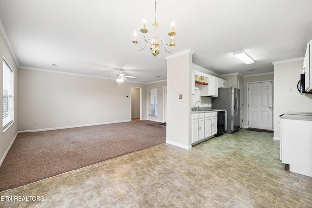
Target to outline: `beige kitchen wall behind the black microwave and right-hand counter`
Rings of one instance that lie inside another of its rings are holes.
[[[274,139],[280,139],[279,115],[288,111],[312,112],[312,95],[300,95],[297,83],[303,61],[274,65]],[[292,92],[287,92],[289,88]]]

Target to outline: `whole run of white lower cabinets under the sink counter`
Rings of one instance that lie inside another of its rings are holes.
[[[209,138],[218,132],[218,113],[196,113],[192,115],[192,143]]]

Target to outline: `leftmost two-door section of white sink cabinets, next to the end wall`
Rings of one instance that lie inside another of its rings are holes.
[[[192,143],[205,138],[205,114],[196,113],[192,115]]]

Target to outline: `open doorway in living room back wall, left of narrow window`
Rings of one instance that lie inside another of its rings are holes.
[[[131,87],[131,119],[142,120],[142,88]]]

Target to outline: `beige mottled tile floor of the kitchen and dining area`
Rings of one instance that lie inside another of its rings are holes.
[[[241,129],[191,150],[161,144],[0,197],[0,208],[304,208],[312,178],[287,170],[272,133]]]

